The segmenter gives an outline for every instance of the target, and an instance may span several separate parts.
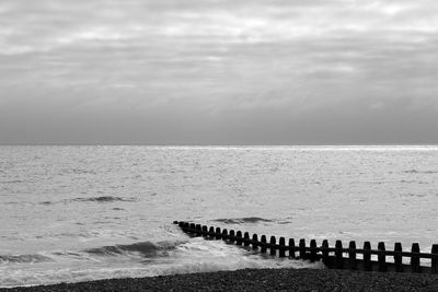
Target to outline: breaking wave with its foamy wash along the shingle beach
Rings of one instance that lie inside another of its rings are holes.
[[[134,256],[130,256],[130,254]],[[50,255],[55,259],[53,265],[50,262],[50,266],[43,265],[39,268],[35,266],[31,269],[18,267],[19,270],[14,270],[15,272],[0,273],[0,283],[2,283],[2,287],[22,287],[246,268],[324,268],[322,262],[312,264],[261,255],[222,241],[205,241],[203,237],[187,238],[184,242],[139,242],[128,245],[102,246],[81,252],[53,253]],[[125,259],[115,260],[112,258],[113,256],[125,256]],[[61,260],[57,260],[58,257],[61,257]],[[99,257],[99,260],[96,260],[96,257]],[[74,262],[77,260],[83,261],[81,261],[81,265],[59,266],[60,262],[66,262],[68,259],[72,259]]]

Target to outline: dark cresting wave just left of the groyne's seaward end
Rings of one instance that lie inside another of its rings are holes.
[[[175,249],[183,242],[141,242],[134,244],[120,244],[120,245],[108,245],[95,248],[89,248],[84,252],[88,254],[99,255],[99,256],[118,256],[118,255],[129,255],[129,254],[140,254],[143,257],[158,257],[165,256],[166,252]]]

